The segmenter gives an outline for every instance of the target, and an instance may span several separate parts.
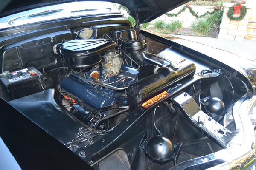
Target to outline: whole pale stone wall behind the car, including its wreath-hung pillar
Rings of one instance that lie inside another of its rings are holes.
[[[247,7],[247,14],[241,21],[230,20],[227,16],[227,11],[230,7],[233,7],[234,3],[223,3],[224,6],[224,14],[222,17],[220,32],[218,34],[218,38],[228,39],[228,40],[243,40],[244,37],[248,37],[248,39],[256,40],[256,0],[247,0],[247,3],[244,6]],[[180,6],[178,8],[169,11],[169,14],[177,14],[180,9],[182,9],[185,5]],[[215,6],[195,6],[190,5],[192,10],[198,12],[198,15],[202,15],[205,12],[213,11]],[[125,10],[122,10],[122,14],[125,17],[128,15]],[[196,21],[196,17],[193,16],[189,9],[186,8],[184,12],[181,12],[177,17],[168,17],[163,14],[157,19],[150,22],[151,27],[156,20],[163,20],[165,23],[170,23],[172,20],[179,20],[183,22],[183,26],[185,28],[191,27],[191,24]]]

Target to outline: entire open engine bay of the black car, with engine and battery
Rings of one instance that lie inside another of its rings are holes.
[[[169,169],[236,134],[234,73],[129,26],[54,36],[2,48],[0,95],[93,168]]]

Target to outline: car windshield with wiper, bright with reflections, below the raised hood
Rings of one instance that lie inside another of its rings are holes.
[[[16,25],[20,23],[20,20],[26,21],[25,23],[31,23],[29,19],[40,18],[42,20],[49,20],[58,17],[72,17],[87,14],[102,14],[109,12],[119,12],[116,9],[115,3],[109,2],[72,2],[63,3],[58,5],[46,6],[41,8],[36,8],[28,11],[19,12],[17,14],[12,14],[7,17],[0,18],[0,23],[9,23],[9,25]],[[52,17],[49,17],[52,16]],[[32,20],[31,20],[32,21]],[[33,20],[34,21],[34,20]],[[38,20],[39,21],[39,20]]]

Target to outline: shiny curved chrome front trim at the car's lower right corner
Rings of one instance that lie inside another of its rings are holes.
[[[183,170],[188,167],[195,167],[196,169],[197,166],[202,164],[209,167],[209,170],[233,170],[252,166],[256,162],[256,138],[249,114],[256,105],[256,96],[254,95],[246,100],[249,95],[245,94],[233,107],[237,134],[227,145],[227,148],[206,156],[184,161],[170,168],[170,170]],[[215,166],[215,164],[218,165]]]

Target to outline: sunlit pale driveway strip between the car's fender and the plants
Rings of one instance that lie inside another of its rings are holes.
[[[234,40],[223,40],[211,37],[195,37],[187,35],[172,35],[180,37],[186,40],[199,42],[201,44],[209,45],[214,48],[219,48],[231,53],[237,54],[241,57],[247,57],[256,61],[256,40],[234,41]]]

